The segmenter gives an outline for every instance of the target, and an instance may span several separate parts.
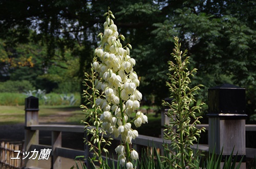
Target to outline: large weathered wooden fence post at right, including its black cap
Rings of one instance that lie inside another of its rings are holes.
[[[209,151],[220,154],[223,149],[222,166],[233,150],[237,162],[243,157],[240,168],[246,168],[245,103],[244,88],[224,83],[208,89]]]

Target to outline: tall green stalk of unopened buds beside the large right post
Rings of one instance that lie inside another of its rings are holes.
[[[171,159],[167,157],[165,159],[169,165],[175,168],[186,168],[186,166],[196,168],[195,163],[199,163],[197,157],[200,152],[194,153],[190,146],[193,146],[193,142],[197,142],[197,137],[200,136],[201,131],[205,131],[205,128],[196,128],[197,124],[200,124],[199,119],[202,118],[201,116],[196,117],[196,113],[200,114],[201,106],[204,103],[198,106],[192,106],[192,104],[196,102],[194,95],[197,94],[197,90],[200,90],[202,85],[189,88],[189,83],[191,83],[189,76],[194,76],[197,69],[191,71],[187,69],[189,64],[189,57],[186,57],[187,50],[182,53],[180,47],[179,39],[175,37],[175,48],[172,56],[176,63],[168,62],[169,82],[166,82],[167,87],[169,87],[170,98],[173,98],[173,101],[172,103],[163,101],[163,105],[170,108],[166,114],[170,121],[168,125],[165,125],[164,138],[172,140],[170,149],[165,147],[165,150],[172,154]],[[190,118],[193,118],[194,121],[191,122]]]

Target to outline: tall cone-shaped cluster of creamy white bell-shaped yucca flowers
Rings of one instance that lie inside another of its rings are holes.
[[[111,11],[109,11],[111,12]],[[93,69],[99,73],[100,79],[95,80],[95,87],[104,92],[105,98],[98,98],[96,106],[103,110],[100,120],[102,128],[113,133],[115,137],[121,135],[123,143],[132,144],[132,139],[138,136],[138,131],[131,128],[131,123],[127,122],[132,112],[140,107],[139,101],[142,94],[137,90],[140,81],[133,66],[136,61],[130,57],[130,44],[124,48],[119,40],[124,40],[123,35],[119,35],[117,26],[108,13],[104,22],[104,34],[101,37],[100,46],[95,49],[95,54],[99,58],[92,64]],[[134,124],[140,127],[142,123],[147,123],[147,117],[142,112],[137,112]],[[125,163],[125,148],[120,145],[116,148],[119,154],[118,160],[122,166]],[[132,159],[138,159],[138,153],[133,150],[130,154]],[[126,152],[127,154],[127,152]],[[126,168],[133,168],[131,162],[126,163]]]

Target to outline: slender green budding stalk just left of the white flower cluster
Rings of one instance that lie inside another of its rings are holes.
[[[97,61],[97,58],[93,59],[94,62]],[[84,90],[83,97],[86,98],[87,104],[92,105],[92,109],[87,107],[86,105],[80,105],[81,108],[84,108],[84,114],[86,115],[85,120],[82,121],[86,124],[84,127],[87,130],[87,135],[91,136],[91,139],[85,139],[84,142],[90,147],[89,151],[93,151],[93,161],[98,161],[100,163],[100,167],[102,166],[102,152],[107,153],[108,149],[106,146],[111,145],[110,140],[113,138],[109,138],[105,140],[103,135],[106,132],[101,129],[102,121],[100,120],[100,115],[102,114],[102,110],[100,107],[96,106],[96,100],[100,97],[103,97],[103,92],[100,92],[95,88],[95,80],[98,78],[98,74],[91,68],[91,73],[84,73],[84,86],[87,87],[87,90]],[[95,127],[92,127],[91,124]],[[101,136],[100,136],[101,134]],[[88,158],[88,157],[86,157]]]

